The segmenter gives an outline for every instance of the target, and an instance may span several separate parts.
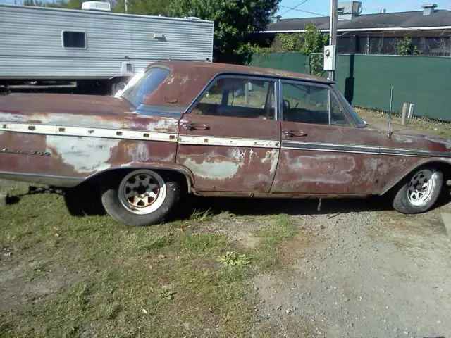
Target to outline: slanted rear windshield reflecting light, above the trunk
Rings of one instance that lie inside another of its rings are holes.
[[[152,94],[156,87],[166,79],[171,70],[161,67],[152,67],[148,70],[137,73],[127,86],[116,93],[115,97],[121,97],[130,102],[135,108],[140,106],[144,99]]]

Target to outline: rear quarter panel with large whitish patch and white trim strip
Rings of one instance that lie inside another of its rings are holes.
[[[103,170],[139,163],[175,163],[177,125],[176,117],[133,113],[94,116],[0,112],[0,172],[83,180]],[[12,127],[25,132],[8,131]],[[39,130],[44,134],[37,134]],[[105,130],[108,137],[96,137],[96,132],[105,134]],[[128,130],[136,139],[123,138]]]

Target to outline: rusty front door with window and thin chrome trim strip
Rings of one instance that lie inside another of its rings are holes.
[[[378,137],[354,125],[334,88],[283,81],[280,91],[282,148],[271,192],[335,195],[376,191]]]

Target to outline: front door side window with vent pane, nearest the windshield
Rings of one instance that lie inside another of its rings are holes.
[[[316,125],[349,125],[335,97],[327,87],[283,83],[283,120]]]

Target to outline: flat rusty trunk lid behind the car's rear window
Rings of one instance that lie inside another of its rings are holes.
[[[123,115],[132,105],[112,96],[18,93],[0,96],[0,113],[13,115]]]

